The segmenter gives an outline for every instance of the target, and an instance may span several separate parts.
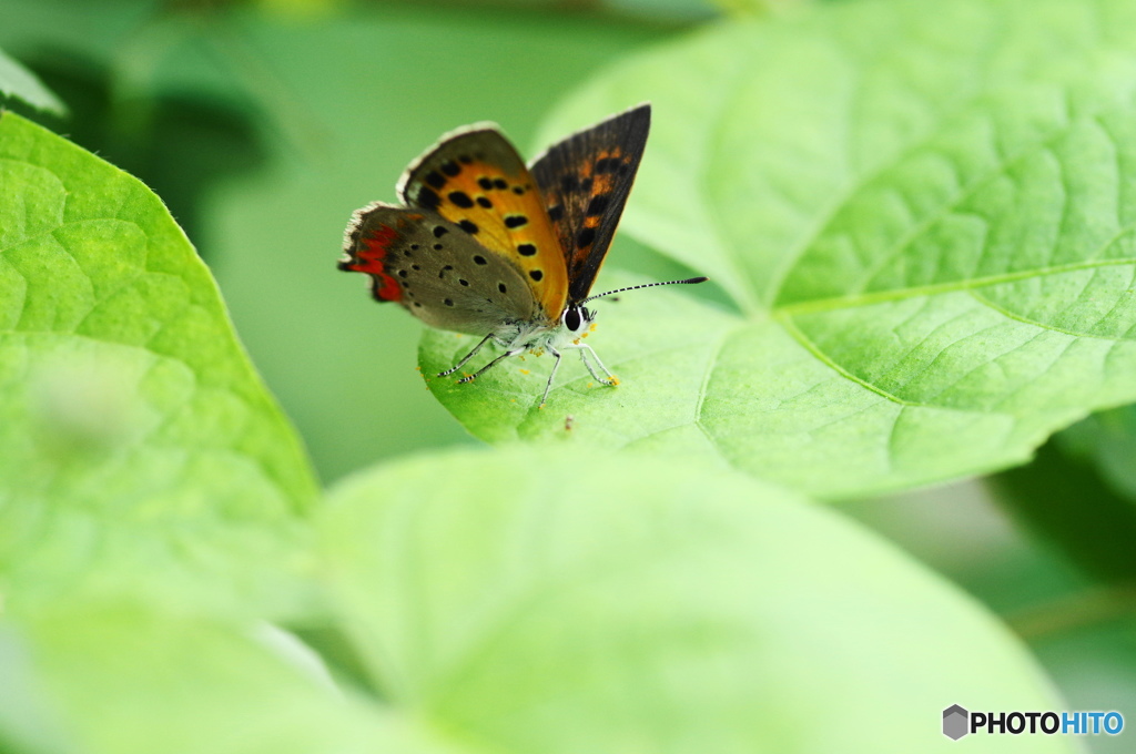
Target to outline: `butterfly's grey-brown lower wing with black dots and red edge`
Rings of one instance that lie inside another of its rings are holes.
[[[379,301],[431,327],[485,335],[541,317],[525,274],[437,212],[375,202],[358,210],[340,269],[366,273]]]

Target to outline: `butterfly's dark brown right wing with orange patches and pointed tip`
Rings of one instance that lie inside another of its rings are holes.
[[[574,134],[532,166],[565,253],[568,301],[587,298],[627,203],[651,127],[641,104]]]

